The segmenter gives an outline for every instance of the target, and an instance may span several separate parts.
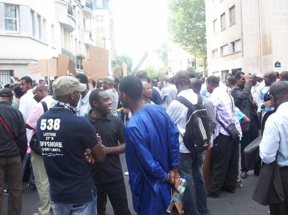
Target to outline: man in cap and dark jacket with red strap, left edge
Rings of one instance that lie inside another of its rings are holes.
[[[0,211],[2,211],[3,187],[8,179],[10,195],[8,214],[21,214],[22,209],[22,160],[27,150],[25,122],[19,110],[12,107],[13,93],[0,91]],[[17,139],[17,141],[16,141]]]

